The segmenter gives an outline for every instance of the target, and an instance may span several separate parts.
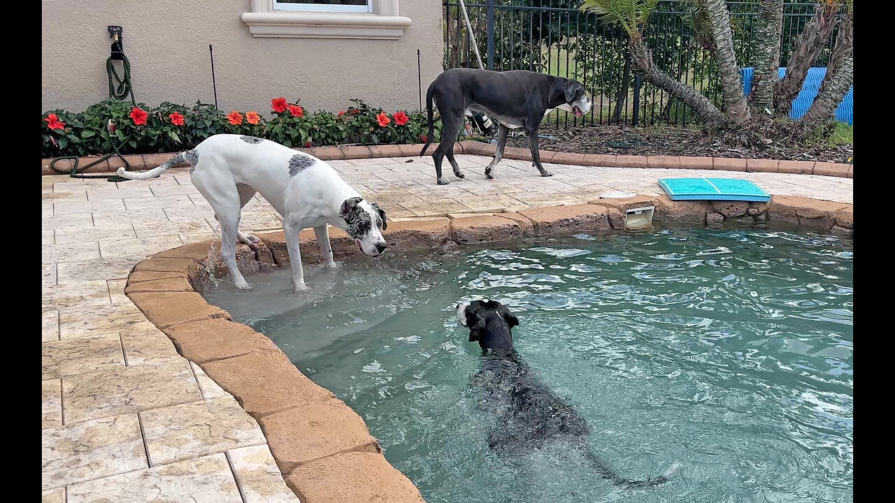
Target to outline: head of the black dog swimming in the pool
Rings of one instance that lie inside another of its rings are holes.
[[[469,328],[469,342],[479,341],[485,350],[503,353],[516,351],[510,329],[518,327],[519,320],[502,303],[488,299],[459,303],[456,318],[461,325]]]

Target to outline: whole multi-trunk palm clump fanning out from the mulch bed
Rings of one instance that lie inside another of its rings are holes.
[[[831,63],[821,90],[808,113],[801,119],[805,124],[829,120],[852,85],[853,0],[818,1],[814,16],[805,23],[805,28],[797,37],[796,48],[787,62],[787,73],[779,80],[777,75],[780,64],[783,0],[761,0],[752,92],[752,105],[756,111],[767,113],[772,105],[777,114],[788,115],[792,100],[802,90],[808,69],[814,64],[823,46],[830,39],[833,29],[840,22],[838,13],[843,2],[848,5],[846,20],[843,21],[836,46],[833,48]],[[596,13],[601,21],[625,30],[636,72],[640,73],[645,81],[686,103],[706,125],[712,127],[726,124],[744,127],[751,124],[752,115],[746,104],[734,53],[730,13],[724,0],[691,0],[685,21],[695,31],[697,40],[712,52],[718,62],[724,88],[724,103],[727,107],[726,116],[721,114],[718,107],[715,107],[702,93],[662,72],[652,63],[652,53],[646,46],[643,30],[658,3],[659,0],[584,0],[581,8],[585,12]]]

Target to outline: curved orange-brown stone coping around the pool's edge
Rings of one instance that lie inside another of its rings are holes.
[[[582,230],[624,232],[625,210],[646,204],[655,206],[656,223],[782,221],[853,233],[853,205],[847,203],[789,196],[747,203],[638,195],[517,213],[396,221],[382,234],[392,250],[401,252]],[[237,248],[243,273],[285,267],[284,234],[258,237],[264,243],[258,252],[244,244]],[[330,232],[330,240],[337,258],[357,253],[353,240],[339,229]],[[311,229],[300,234],[300,247],[306,262],[320,261]],[[171,338],[179,354],[197,363],[259,422],[286,484],[303,503],[422,502],[413,482],[388,464],[361,416],[305,377],[268,337],[234,322],[197,293],[208,286],[210,274],[226,274],[222,263],[208,263],[208,251],[206,241],[157,253],[132,269],[124,293]]]

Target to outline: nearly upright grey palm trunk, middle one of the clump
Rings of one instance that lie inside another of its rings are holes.
[[[782,35],[783,0],[761,0],[758,7],[758,27],[755,29],[755,70],[750,93],[754,113],[770,114],[773,110],[774,84],[780,80]]]

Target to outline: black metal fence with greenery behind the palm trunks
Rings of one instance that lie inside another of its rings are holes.
[[[584,117],[555,111],[545,126],[593,124],[684,125],[695,114],[677,98],[641,81],[635,75],[626,48],[626,34],[583,13],[581,0],[472,0],[466,12],[476,46],[486,67],[494,70],[530,70],[581,81],[592,93],[593,109]],[[692,2],[662,0],[646,27],[653,63],[662,71],[694,87],[723,107],[723,90],[717,65],[710,55],[710,40],[691,28]],[[805,22],[814,15],[814,3],[787,2],[783,13],[780,66]],[[737,62],[750,66],[757,2],[728,2]],[[814,64],[825,66],[837,32]],[[444,2],[445,69],[478,67],[472,39],[465,27],[458,0]]]

